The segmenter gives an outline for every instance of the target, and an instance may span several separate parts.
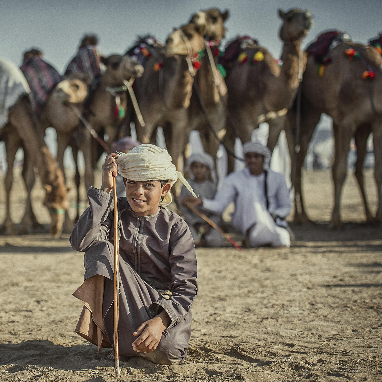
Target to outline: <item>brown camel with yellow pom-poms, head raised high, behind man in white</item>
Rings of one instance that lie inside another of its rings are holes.
[[[284,128],[285,114],[298,91],[300,47],[312,26],[308,10],[278,10],[283,21],[279,31],[283,41],[280,67],[267,49],[256,42],[247,44],[242,54],[227,71],[228,110],[235,126],[227,127],[225,143],[233,151],[236,135],[241,142],[251,140],[261,122],[269,128],[268,146],[271,150]],[[236,58],[236,57],[235,57]],[[306,66],[306,53],[301,57],[301,69]],[[228,156],[228,172],[233,171],[234,158]]]

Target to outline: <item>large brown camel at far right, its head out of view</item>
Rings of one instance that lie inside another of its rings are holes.
[[[351,57],[358,53],[355,57]],[[374,136],[375,170],[378,189],[378,209],[375,219],[382,215],[382,58],[374,47],[343,41],[331,50],[331,62],[324,66],[322,76],[317,74],[317,64],[309,55],[302,83],[300,151],[295,172],[295,222],[310,222],[306,215],[301,189],[301,167],[322,113],[333,118],[335,160],[332,166],[334,207],[332,227],[342,225],[340,199],[346,178],[346,159],[350,140],[354,136],[357,147],[355,176],[364,201],[366,219],[374,220],[367,205],[363,186],[363,162],[366,140]],[[357,57],[359,56],[359,57]],[[370,73],[370,74],[369,74]],[[363,78],[364,76],[364,78]],[[288,112],[287,129],[293,126],[295,112]]]

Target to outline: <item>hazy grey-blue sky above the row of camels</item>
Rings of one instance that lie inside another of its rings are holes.
[[[37,47],[63,73],[85,33],[97,34],[100,53],[124,53],[138,35],[150,33],[164,41],[191,14],[217,7],[230,11],[226,40],[249,35],[278,58],[278,8],[311,11],[314,26],[306,47],[327,29],[346,31],[366,43],[382,31],[380,5],[381,0],[0,0],[0,57],[21,65],[22,53]],[[322,118],[323,125],[329,128],[330,120]]]

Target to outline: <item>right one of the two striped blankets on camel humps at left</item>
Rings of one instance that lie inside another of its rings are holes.
[[[65,76],[87,74],[89,87],[93,87],[101,75],[100,58],[95,45],[81,48],[65,70]]]

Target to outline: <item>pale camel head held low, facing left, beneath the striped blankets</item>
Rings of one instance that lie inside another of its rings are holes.
[[[53,97],[62,104],[80,104],[87,97],[89,76],[71,75],[58,83],[53,89]]]

